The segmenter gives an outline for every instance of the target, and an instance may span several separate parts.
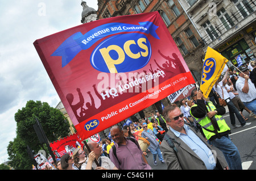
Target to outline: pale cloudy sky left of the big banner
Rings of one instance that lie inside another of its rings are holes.
[[[97,0],[86,3],[98,10]],[[7,146],[16,137],[15,113],[28,100],[54,108],[60,102],[34,41],[81,25],[81,13],[81,0],[0,2],[0,164],[8,161]]]

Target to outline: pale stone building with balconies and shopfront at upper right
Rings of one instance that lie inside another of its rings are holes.
[[[256,60],[256,2],[250,0],[179,0],[199,31],[204,46],[228,58],[237,66],[237,57]],[[233,65],[231,65],[233,64]]]

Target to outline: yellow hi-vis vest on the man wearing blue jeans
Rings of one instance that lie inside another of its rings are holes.
[[[208,103],[207,109],[208,109],[209,112],[216,110],[216,107],[213,105],[212,102],[207,102],[207,103]],[[192,107],[196,107],[196,106],[197,106],[197,104],[194,104]],[[190,111],[190,114],[192,115],[191,111]],[[193,116],[193,117],[195,117],[195,116]],[[217,133],[219,134],[218,136],[224,136],[226,134],[229,134],[230,133],[230,128],[229,128],[228,124],[226,124],[226,121],[223,119],[223,117],[221,115],[215,115],[214,117],[216,118],[218,127],[220,128],[220,131],[217,130]],[[215,138],[217,138],[217,135],[214,132],[212,122],[210,121],[207,114],[202,118],[195,117],[195,119],[196,119],[197,123],[199,123],[201,125],[201,127],[203,127],[202,130],[203,130],[204,135],[207,138],[207,140],[212,141]],[[204,129],[204,128],[206,128],[206,129]],[[207,129],[209,131],[207,131]],[[210,131],[212,131],[212,132],[210,132]]]

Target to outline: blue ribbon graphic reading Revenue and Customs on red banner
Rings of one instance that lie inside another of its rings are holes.
[[[120,32],[143,32],[150,34],[155,39],[160,39],[156,34],[156,26],[152,22],[141,22],[139,25],[126,24],[126,23],[108,23],[93,28],[89,32],[82,35],[81,32],[76,32],[72,36],[69,36],[59,48],[51,54],[51,56],[62,57],[62,67],[66,66],[75,56],[81,51],[92,47],[98,40],[115,33]]]

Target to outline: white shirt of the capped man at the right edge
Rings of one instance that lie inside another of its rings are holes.
[[[243,86],[245,85],[245,78],[239,77],[236,82],[236,88],[238,95],[242,102],[251,102],[252,100],[256,99],[256,89],[254,83],[248,80],[249,92],[246,94],[242,91]]]

